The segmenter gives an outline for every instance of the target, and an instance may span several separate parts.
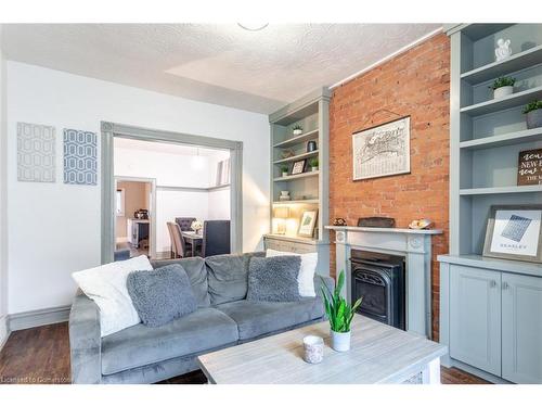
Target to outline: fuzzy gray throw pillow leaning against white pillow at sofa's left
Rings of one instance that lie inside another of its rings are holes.
[[[126,285],[141,321],[147,327],[160,327],[197,308],[189,276],[179,264],[132,271]]]

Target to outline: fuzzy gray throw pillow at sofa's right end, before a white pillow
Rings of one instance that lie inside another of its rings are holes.
[[[253,257],[248,265],[248,301],[299,301],[299,256]]]

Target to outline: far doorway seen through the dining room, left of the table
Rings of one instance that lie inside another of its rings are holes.
[[[156,258],[156,180],[115,176],[115,258]]]

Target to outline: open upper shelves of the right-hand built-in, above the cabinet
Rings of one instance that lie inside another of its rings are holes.
[[[542,148],[522,107],[542,99],[542,25],[464,24],[451,28],[450,253],[481,255],[491,205],[542,203],[542,186],[518,186],[519,152]],[[513,54],[495,62],[499,38]],[[514,93],[493,99],[501,76]]]

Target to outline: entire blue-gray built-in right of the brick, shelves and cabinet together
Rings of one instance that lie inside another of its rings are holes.
[[[542,304],[542,183],[528,178],[535,157],[524,155],[542,149],[542,126],[528,126],[524,112],[542,99],[542,24],[446,30],[450,252],[438,260],[439,341],[449,354],[441,363],[494,383],[542,383],[542,313],[532,311]],[[493,99],[490,87],[503,77],[515,79],[514,93]]]

